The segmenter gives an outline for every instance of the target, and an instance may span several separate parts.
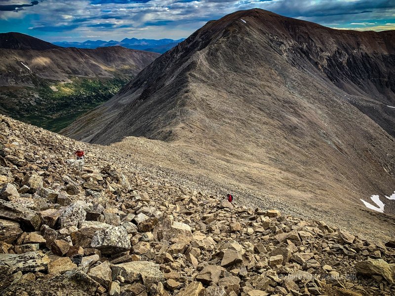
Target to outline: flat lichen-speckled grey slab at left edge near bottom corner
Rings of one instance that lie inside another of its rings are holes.
[[[36,272],[46,270],[48,263],[51,261],[48,256],[39,252],[28,252],[20,255],[0,254],[0,264],[7,265],[14,272]]]

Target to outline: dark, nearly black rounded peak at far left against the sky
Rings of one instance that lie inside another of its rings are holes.
[[[36,37],[17,32],[0,33],[0,48],[46,50],[60,48]]]

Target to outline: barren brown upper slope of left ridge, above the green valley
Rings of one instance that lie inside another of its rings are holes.
[[[69,81],[70,77],[128,78],[158,56],[158,53],[121,46],[49,50],[0,48],[0,86],[34,86],[37,78],[57,81]]]

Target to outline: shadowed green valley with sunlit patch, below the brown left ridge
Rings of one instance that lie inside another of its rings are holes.
[[[1,87],[0,112],[58,132],[108,101],[128,81],[74,77],[69,83],[61,83],[37,78],[35,87]]]

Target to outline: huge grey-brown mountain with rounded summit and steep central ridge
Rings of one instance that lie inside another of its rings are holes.
[[[395,32],[239,11],[207,23],[64,133],[196,147],[237,161],[227,178],[285,202],[362,207],[360,198],[394,191],[394,41]]]

